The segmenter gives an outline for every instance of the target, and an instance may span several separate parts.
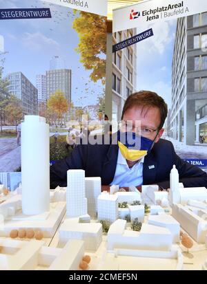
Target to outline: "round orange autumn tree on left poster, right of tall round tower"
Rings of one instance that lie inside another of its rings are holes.
[[[48,99],[47,103],[48,109],[50,112],[55,112],[59,122],[63,118],[63,114],[68,111],[68,101],[63,95],[62,91],[56,91],[55,94],[52,94]]]

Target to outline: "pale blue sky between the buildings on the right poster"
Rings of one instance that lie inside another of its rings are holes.
[[[137,90],[157,92],[172,105],[172,55],[174,50],[177,19],[146,25],[154,36],[137,43]],[[137,32],[139,34],[139,32]]]

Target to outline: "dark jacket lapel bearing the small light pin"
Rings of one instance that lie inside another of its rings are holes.
[[[157,162],[152,153],[146,155],[143,165],[143,184],[154,184],[157,173]]]

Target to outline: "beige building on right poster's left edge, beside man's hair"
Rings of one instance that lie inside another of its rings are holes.
[[[112,44],[135,36],[137,29],[115,32]],[[121,120],[124,102],[137,89],[137,45],[112,54],[112,120]]]

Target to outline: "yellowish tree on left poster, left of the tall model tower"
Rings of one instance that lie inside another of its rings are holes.
[[[8,105],[5,108],[5,113],[8,122],[15,124],[17,132],[17,124],[23,117],[23,107],[21,100],[19,100],[19,98],[14,95],[10,96],[10,99],[8,100]]]

